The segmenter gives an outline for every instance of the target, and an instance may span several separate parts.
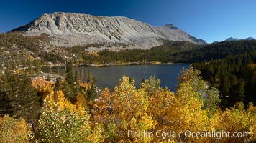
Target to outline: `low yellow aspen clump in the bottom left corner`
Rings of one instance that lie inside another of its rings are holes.
[[[17,143],[29,142],[32,132],[24,119],[13,119],[9,115],[0,117],[0,142]]]

